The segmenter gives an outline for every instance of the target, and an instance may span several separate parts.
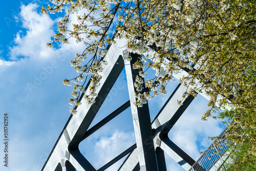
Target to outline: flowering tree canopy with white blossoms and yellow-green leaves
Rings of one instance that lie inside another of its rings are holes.
[[[51,0],[52,6],[42,8],[44,13],[66,11],[58,23],[56,41],[68,44],[73,37],[84,43],[84,51],[77,53],[71,65],[78,72],[69,101],[79,105],[84,82],[92,75],[90,95],[94,102],[99,72],[111,38],[128,40],[127,49],[141,55],[134,68],[152,68],[154,78],[145,81],[154,95],[165,94],[165,86],[173,80],[173,73],[181,68],[189,70],[180,82],[188,86],[184,94],[195,95],[202,90],[210,96],[211,110],[207,117],[228,119],[227,137],[237,144],[247,144],[245,152],[255,156],[256,151],[256,1],[255,0]],[[77,21],[68,29],[70,16]],[[150,53],[154,52],[154,53]],[[140,77],[135,84],[139,89]],[[142,105],[152,94],[137,94],[137,105]],[[219,96],[223,98],[219,98]],[[231,110],[225,110],[229,106]],[[212,110],[224,109],[214,114]],[[75,110],[72,108],[71,113]],[[233,121],[233,122],[231,122]],[[224,121],[223,121],[224,122]],[[243,148],[244,149],[244,148]],[[246,160],[245,160],[246,161]]]

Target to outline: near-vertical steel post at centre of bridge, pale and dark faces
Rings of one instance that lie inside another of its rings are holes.
[[[133,124],[134,131],[137,143],[137,149],[139,153],[139,164],[141,171],[156,171],[157,168],[157,160],[154,149],[154,142],[152,136],[152,127],[151,127],[151,119],[150,119],[150,111],[148,109],[148,104],[143,104],[142,107],[138,108],[135,106],[136,98],[135,92],[136,88],[134,87],[134,82],[136,79],[136,75],[139,74],[139,69],[133,69],[133,64],[139,60],[139,55],[131,54],[132,60],[129,61],[124,59],[125,64],[125,72],[128,83],[128,90],[131,102],[131,109],[133,115]],[[143,90],[145,89],[145,85],[143,84]]]

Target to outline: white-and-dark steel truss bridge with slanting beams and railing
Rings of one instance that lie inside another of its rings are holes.
[[[152,122],[148,103],[144,104],[141,108],[134,105],[136,102],[134,82],[139,70],[133,69],[132,65],[139,56],[127,53],[126,45],[127,41],[125,39],[116,39],[116,44],[108,47],[108,54],[104,57],[108,65],[103,67],[103,72],[101,73],[102,78],[100,80],[100,86],[96,90],[96,102],[88,104],[86,100],[81,97],[80,101],[82,104],[76,106],[77,113],[71,115],[68,119],[44,167],[41,169],[42,171],[103,171],[126,155],[127,157],[120,165],[118,171],[166,171],[164,152],[172,157],[185,170],[206,171],[213,168],[212,166],[214,166],[225,153],[228,146],[219,141],[218,146],[212,144],[207,149],[206,153],[203,154],[198,161],[195,161],[168,138],[168,132],[194,99],[191,95],[182,98],[183,92],[187,89],[182,84],[178,84],[177,88],[172,95],[170,95]],[[131,61],[126,59],[128,55],[132,56]],[[90,124],[123,68],[125,68],[130,100],[89,129]],[[188,71],[182,70],[181,73],[174,74],[174,76],[179,79],[187,74]],[[89,84],[90,82],[87,84],[87,87]],[[145,90],[145,87],[143,87],[143,89]],[[89,92],[86,91],[86,94],[88,93]],[[205,92],[200,94],[206,99],[209,99]],[[177,100],[181,100],[182,105],[178,105]],[[130,106],[136,143],[109,163],[106,163],[99,169],[95,169],[80,153],[78,148],[79,143]],[[212,155],[212,152],[218,153]]]

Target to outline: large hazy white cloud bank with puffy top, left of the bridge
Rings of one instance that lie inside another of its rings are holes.
[[[69,61],[82,46],[48,49],[56,22],[36,8],[36,4],[21,7],[27,31],[16,33],[10,60],[0,59],[0,114],[10,115],[10,165],[7,169],[0,165],[0,170],[40,170],[70,116],[72,88],[63,86],[61,79],[76,73]]]

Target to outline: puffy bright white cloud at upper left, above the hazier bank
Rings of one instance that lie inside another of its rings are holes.
[[[52,49],[46,47],[54,34],[52,26],[54,21],[49,15],[42,15],[36,12],[38,5],[22,5],[19,13],[23,28],[26,33],[19,31],[14,42],[16,46],[10,48],[11,59],[17,60],[19,56],[30,58],[46,58],[45,52],[53,53]],[[25,34],[25,35],[24,35]],[[42,53],[44,52],[44,53]]]

